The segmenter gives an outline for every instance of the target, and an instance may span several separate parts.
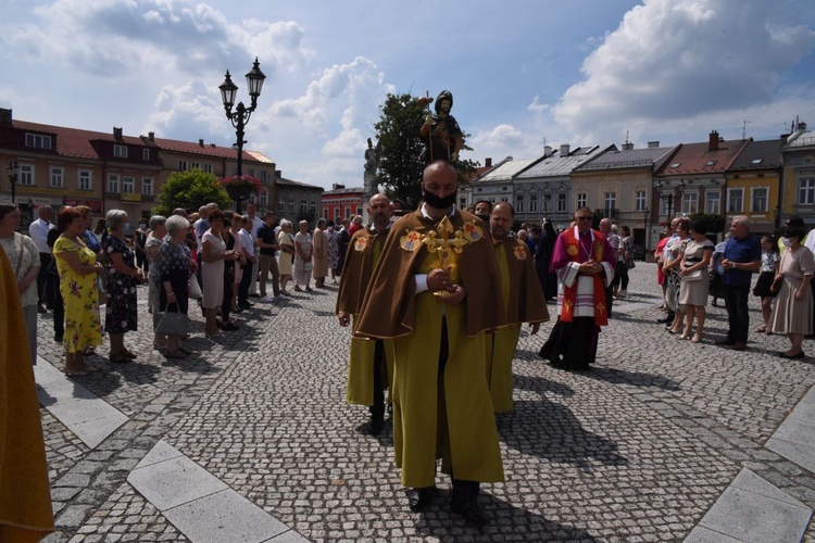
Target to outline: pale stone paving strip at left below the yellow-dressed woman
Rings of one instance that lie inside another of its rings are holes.
[[[40,405],[91,449],[128,420],[121,411],[39,356],[34,376]]]

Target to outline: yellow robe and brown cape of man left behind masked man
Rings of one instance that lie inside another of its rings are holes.
[[[348,245],[337,293],[337,313],[346,312],[353,315],[352,326],[354,327],[387,235],[388,230],[377,232],[371,228],[363,228],[354,232]],[[384,346],[388,370],[387,382],[390,387],[393,380],[393,343],[386,341]],[[373,405],[374,403],[375,348],[375,341],[359,336],[351,338],[346,388],[348,403],[359,405]]]

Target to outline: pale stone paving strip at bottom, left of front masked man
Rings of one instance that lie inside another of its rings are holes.
[[[308,541],[163,440],[127,482],[192,542]]]

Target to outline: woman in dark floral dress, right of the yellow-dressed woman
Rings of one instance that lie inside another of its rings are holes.
[[[136,354],[125,346],[125,333],[138,329],[136,287],[145,282],[133,250],[125,241],[127,213],[111,210],[105,216],[110,235],[102,247],[108,255],[108,306],[104,331],[111,338],[111,362],[129,362]]]

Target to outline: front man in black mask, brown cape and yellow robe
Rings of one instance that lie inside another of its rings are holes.
[[[455,207],[456,190],[449,162],[425,168],[424,204],[391,227],[356,333],[393,340],[393,445],[410,508],[430,504],[440,456],[451,510],[482,526],[479,483],[503,481],[487,334],[506,311],[489,232]]]

